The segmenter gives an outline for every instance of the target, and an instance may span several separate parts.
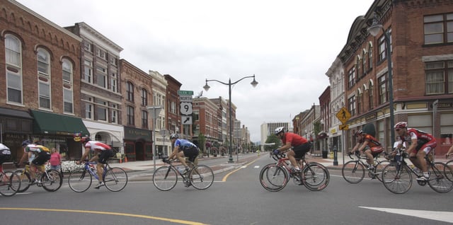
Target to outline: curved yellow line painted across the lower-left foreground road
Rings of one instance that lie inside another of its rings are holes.
[[[139,215],[139,214],[129,214],[129,213],[120,213],[120,212],[102,212],[102,211],[87,211],[87,210],[75,210],[75,209],[37,209],[37,208],[1,208],[0,210],[28,210],[28,211],[47,211],[47,212],[78,212],[78,213],[91,213],[91,214],[108,214],[108,215],[115,215],[115,216],[124,216],[124,217],[137,217],[137,218],[144,218],[144,219],[156,219],[162,221],[171,221],[173,223],[178,224],[188,224],[188,225],[205,225],[199,222],[194,221],[185,221],[181,219],[168,219],[163,217],[151,217],[146,215]]]

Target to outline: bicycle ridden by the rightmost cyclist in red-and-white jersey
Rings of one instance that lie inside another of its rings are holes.
[[[406,163],[405,158],[408,158],[404,148],[395,149],[394,161],[384,167],[382,171],[382,183],[387,190],[395,194],[406,193],[412,186],[412,173],[417,178],[421,178],[423,174],[415,171]],[[433,162],[430,156],[425,157],[428,168],[430,168],[430,178],[425,180],[417,180],[418,185],[424,186],[428,183],[432,190],[440,193],[446,193],[453,189],[453,182],[447,177],[447,174],[453,174],[452,169],[445,163]]]

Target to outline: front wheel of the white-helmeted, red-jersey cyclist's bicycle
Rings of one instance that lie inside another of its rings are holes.
[[[288,183],[288,176],[285,168],[271,163],[261,169],[260,183],[265,190],[277,192],[285,188]]]

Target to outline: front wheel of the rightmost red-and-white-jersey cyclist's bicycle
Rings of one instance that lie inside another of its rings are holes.
[[[395,194],[403,194],[411,189],[412,174],[408,166],[392,162],[382,171],[382,183],[387,190]]]

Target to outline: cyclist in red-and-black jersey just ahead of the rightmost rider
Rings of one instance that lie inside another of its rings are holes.
[[[363,151],[367,156],[367,163],[369,165],[369,170],[374,170],[374,157],[379,155],[384,148],[379,141],[370,134],[365,134],[361,129],[355,132],[355,138],[357,144],[352,148],[350,154],[354,154],[355,151]]]

